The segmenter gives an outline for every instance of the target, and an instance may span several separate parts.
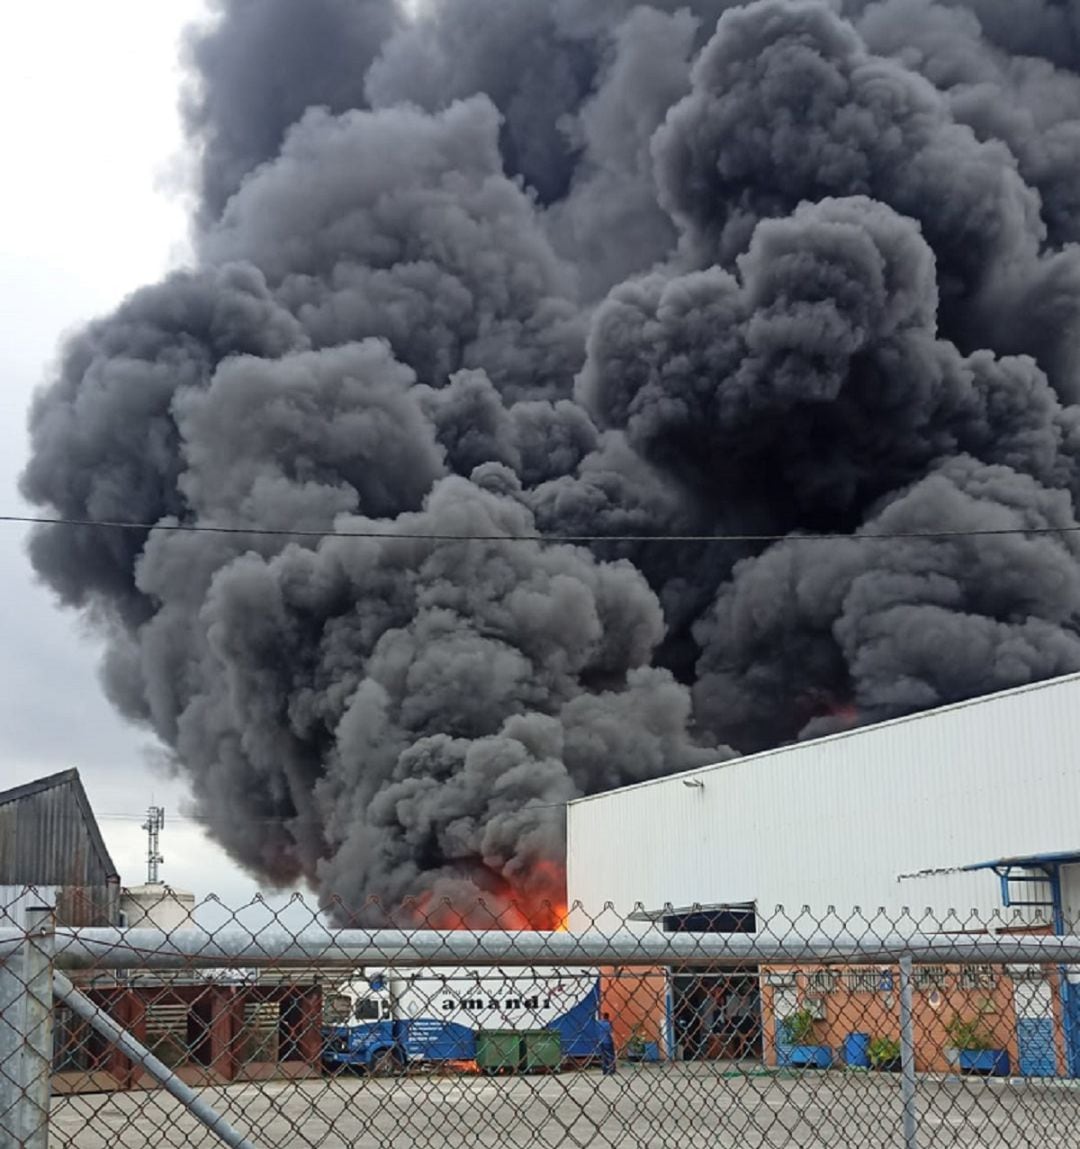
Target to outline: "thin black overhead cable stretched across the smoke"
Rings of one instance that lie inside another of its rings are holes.
[[[399,530],[303,530],[270,526],[217,526],[211,523],[130,523],[117,519],[49,518],[37,515],[0,515],[0,523],[28,526],[65,526],[101,531],[168,531],[176,534],[226,534],[254,538],[283,539],[410,539],[421,542],[879,542],[912,539],[992,539],[1006,535],[1060,535],[1080,533],[1073,526],[1003,526],[940,531],[872,531],[850,534],[825,531],[816,534],[558,534],[531,532],[527,534],[450,533],[440,531]]]

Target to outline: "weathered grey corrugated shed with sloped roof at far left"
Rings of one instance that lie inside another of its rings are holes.
[[[61,924],[116,920],[119,876],[77,770],[0,792],[0,888],[28,887],[55,890]]]

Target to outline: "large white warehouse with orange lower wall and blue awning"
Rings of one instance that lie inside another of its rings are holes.
[[[571,927],[1074,932],[1078,746],[1071,674],[580,799],[568,810]],[[839,1038],[844,1017],[875,1008],[875,993],[892,1010],[880,972],[748,970],[717,992],[716,976],[674,971],[666,1017],[651,1026],[669,1056],[709,1056],[708,1032],[692,1040],[680,1018],[700,1031],[718,997],[753,992],[756,1052],[776,1061],[785,1011],[812,1001]],[[934,980],[927,1001],[963,988],[961,971],[923,977]],[[981,989],[1011,1002],[1002,1044],[1012,1065],[1080,1075],[1080,973],[1001,970],[993,980]]]

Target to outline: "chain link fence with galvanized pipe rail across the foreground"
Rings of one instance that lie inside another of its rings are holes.
[[[39,901],[0,908],[3,1146],[1080,1144],[1060,923]]]

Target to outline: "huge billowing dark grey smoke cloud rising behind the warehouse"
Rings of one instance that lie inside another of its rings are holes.
[[[67,342],[23,491],[285,532],[30,543],[253,873],[545,924],[568,799],[1080,670],[1080,5],[216,0],[185,53],[196,260]],[[732,533],[782,541],[626,539]]]

